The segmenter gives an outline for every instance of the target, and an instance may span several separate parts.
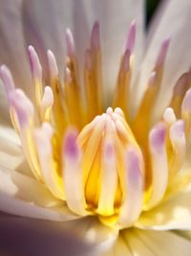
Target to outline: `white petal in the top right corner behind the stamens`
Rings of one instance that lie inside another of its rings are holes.
[[[191,33],[190,33],[190,12],[191,2],[189,0],[169,0],[161,8],[156,27],[152,28],[152,38],[149,41],[147,52],[142,63],[141,79],[139,82],[139,95],[145,89],[145,84],[151,73],[154,62],[157,58],[161,42],[171,37],[169,51],[165,63],[164,79],[162,81],[160,109],[169,101],[172,86],[178,80],[182,72],[190,68],[191,58]],[[161,105],[162,103],[162,105]],[[158,107],[159,108],[159,107]],[[160,110],[158,109],[158,111]]]

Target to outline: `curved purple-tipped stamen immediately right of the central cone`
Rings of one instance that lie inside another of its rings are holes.
[[[149,150],[152,162],[151,198],[146,202],[146,209],[159,203],[168,184],[168,162],[165,147],[167,128],[160,123],[149,134]]]

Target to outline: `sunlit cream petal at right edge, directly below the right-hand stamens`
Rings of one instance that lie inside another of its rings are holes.
[[[191,192],[182,191],[144,212],[136,224],[140,228],[191,230]]]

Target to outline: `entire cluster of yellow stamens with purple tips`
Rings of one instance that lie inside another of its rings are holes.
[[[34,177],[74,215],[96,216],[108,226],[131,227],[172,190],[188,157],[191,133],[190,71],[174,87],[169,105],[154,119],[170,39],[161,43],[141,102],[131,109],[136,23],[122,50],[116,88],[105,101],[99,24],[93,26],[84,63],[66,31],[64,80],[48,50],[50,86],[32,46],[28,53],[33,95],[16,88],[1,66],[11,122]],[[104,54],[104,53],[103,53]],[[115,61],[115,60],[114,60]],[[79,64],[84,66],[83,82]]]

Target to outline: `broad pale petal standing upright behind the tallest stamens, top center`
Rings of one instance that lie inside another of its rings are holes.
[[[96,20],[100,21],[103,62],[107,71],[106,76],[104,74],[106,85],[114,85],[116,82],[123,42],[133,19],[138,23],[136,50],[140,56],[143,35],[141,0],[122,0],[120,3],[111,0],[24,1],[24,28],[28,44],[35,46],[44,63],[47,61],[45,50],[51,49],[61,71],[66,55],[63,43],[66,29],[70,28],[74,33],[77,58],[82,69],[92,26]]]

